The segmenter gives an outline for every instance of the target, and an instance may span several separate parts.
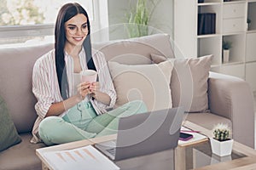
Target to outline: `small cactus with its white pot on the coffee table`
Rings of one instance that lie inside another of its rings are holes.
[[[230,156],[233,139],[230,139],[230,127],[227,124],[218,123],[212,129],[213,138],[210,138],[212,153],[217,156]]]

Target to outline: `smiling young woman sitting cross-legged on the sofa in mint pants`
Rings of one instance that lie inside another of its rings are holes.
[[[80,82],[79,72],[87,69],[97,71],[98,82]],[[55,49],[36,61],[32,92],[38,99],[33,143],[62,144],[116,133],[119,117],[147,111],[138,100],[111,110],[116,93],[108,65],[102,53],[91,50],[90,21],[79,3],[60,9]]]

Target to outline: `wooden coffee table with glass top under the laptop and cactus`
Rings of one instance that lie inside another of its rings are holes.
[[[211,131],[192,122],[185,122],[185,127],[200,131],[211,136]],[[36,150],[42,161],[42,169],[53,169],[44,157],[45,152],[56,150],[71,150],[88,144],[101,143],[116,139],[116,135],[101,138],[81,140],[67,144],[58,144]],[[193,144],[178,145],[175,150],[164,150],[148,156],[138,156],[123,161],[115,161],[120,169],[254,169],[256,168],[256,150],[234,141],[231,156],[219,157],[212,155],[208,140],[201,140]]]

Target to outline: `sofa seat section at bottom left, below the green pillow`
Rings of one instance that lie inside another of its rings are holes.
[[[0,170],[42,169],[41,161],[36,156],[36,149],[45,145],[43,143],[30,143],[31,133],[22,133],[20,138],[22,139],[20,144],[0,152]]]

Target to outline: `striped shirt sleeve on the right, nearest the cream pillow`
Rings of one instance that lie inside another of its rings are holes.
[[[93,100],[93,103],[96,105],[97,109],[100,114],[106,112],[106,110],[113,108],[116,102],[116,92],[113,87],[113,81],[110,76],[108,70],[108,63],[105,59],[104,54],[102,52],[96,51],[93,54],[93,59],[96,65],[96,70],[98,72],[98,79],[101,86],[101,91],[109,95],[111,101],[109,105],[102,104],[101,102],[97,101],[96,99]]]

